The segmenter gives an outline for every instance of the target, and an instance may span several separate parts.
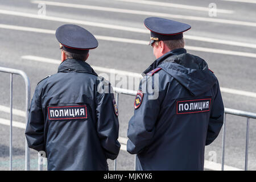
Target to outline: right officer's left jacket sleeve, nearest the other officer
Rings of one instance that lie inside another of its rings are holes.
[[[144,78],[142,82],[143,81]],[[142,86],[139,87],[139,90],[141,90],[141,87]],[[152,94],[150,93],[143,93],[141,105],[134,110],[134,115],[129,121],[127,130],[127,151],[130,154],[139,154],[142,152],[150,144],[154,136],[155,123],[160,110],[160,102],[159,96],[157,99],[152,99],[151,96]],[[136,98],[137,97],[135,97],[135,99]]]

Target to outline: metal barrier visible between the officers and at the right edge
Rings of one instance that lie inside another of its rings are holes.
[[[114,92],[116,93],[116,102],[118,103],[119,94],[125,94],[129,96],[136,96],[137,92],[134,90],[127,90],[127,89],[121,89],[113,87]],[[249,147],[249,119],[256,119],[256,113],[250,113],[246,111],[241,110],[235,110],[235,109],[229,109],[225,108],[224,113],[224,124],[222,129],[222,162],[221,162],[221,170],[224,171],[224,159],[225,159],[225,137],[226,137],[226,114],[231,115],[238,115],[241,117],[247,118],[247,126],[246,126],[246,147],[245,147],[245,171],[247,171],[247,164],[248,164],[248,147]],[[115,165],[114,165],[114,171],[117,169],[116,167],[116,159],[115,159]],[[134,159],[134,170],[136,169],[136,155]]]

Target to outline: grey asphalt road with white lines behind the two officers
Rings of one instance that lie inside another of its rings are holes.
[[[217,7],[216,11],[214,7]],[[79,24],[96,35],[99,41],[99,47],[90,51],[88,63],[95,67],[97,73],[107,73],[105,77],[113,86],[137,90],[138,73],[155,60],[152,48],[147,46],[150,34],[143,20],[159,16],[191,24],[191,30],[184,34],[185,48],[207,61],[220,82],[225,107],[255,113],[255,9],[256,1],[252,0],[0,0],[0,67],[26,72],[31,82],[32,97],[36,84],[57,72],[61,55],[55,38],[56,28],[67,23]],[[107,69],[104,71],[104,68]],[[115,79],[113,73],[110,77],[110,72],[115,72]],[[125,77],[129,74],[130,80]],[[0,169],[8,170],[9,126],[6,120],[10,118],[10,75],[0,75]],[[121,79],[127,79],[127,83],[121,85]],[[13,169],[23,170],[25,85],[20,76],[14,76],[13,80],[16,109],[13,120],[18,122],[13,128]],[[119,97],[119,136],[123,149],[126,148],[133,103],[133,96]],[[246,118],[228,115],[226,126],[226,169],[243,169]],[[248,169],[255,170],[255,119],[250,120],[249,134]],[[220,169],[221,144],[222,132],[205,148],[205,169]],[[37,169],[37,160],[37,152],[31,150],[32,170]],[[213,163],[208,163],[208,160]],[[109,168],[113,169],[113,161],[108,162]],[[121,150],[117,169],[133,170],[134,155]]]

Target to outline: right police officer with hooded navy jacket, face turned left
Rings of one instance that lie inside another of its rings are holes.
[[[127,151],[138,154],[137,170],[203,170],[205,146],[217,138],[224,118],[218,80],[184,49],[183,32],[191,26],[156,17],[144,25],[156,60],[135,97]]]

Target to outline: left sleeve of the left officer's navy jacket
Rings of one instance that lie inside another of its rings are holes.
[[[41,106],[39,86],[36,86],[34,96],[30,105],[30,114],[25,131],[28,147],[45,151],[44,146],[44,116]]]

